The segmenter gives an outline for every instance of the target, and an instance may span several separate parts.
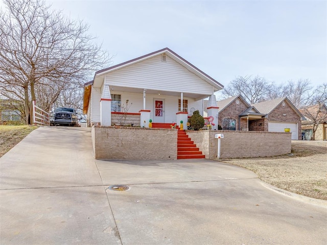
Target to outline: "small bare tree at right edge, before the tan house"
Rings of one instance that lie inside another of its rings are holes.
[[[315,133],[319,124],[327,121],[327,83],[318,86],[310,99],[310,106],[303,107],[300,112],[305,116],[309,124],[312,124],[312,138],[315,139]]]

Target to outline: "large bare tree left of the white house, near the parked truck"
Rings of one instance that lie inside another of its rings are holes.
[[[85,81],[110,57],[87,34],[86,24],[50,10],[42,0],[4,3],[7,11],[0,10],[0,88],[7,97],[15,95],[24,101],[28,124],[31,102],[37,95],[43,91],[45,99],[52,94],[48,98],[51,107],[61,91]]]

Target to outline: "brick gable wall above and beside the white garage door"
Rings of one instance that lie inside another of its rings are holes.
[[[283,114],[286,115],[283,116]],[[277,106],[277,108],[267,116],[267,119],[269,121],[297,122],[297,135],[298,139],[301,139],[301,118],[288,103],[285,103],[285,106],[282,104]]]

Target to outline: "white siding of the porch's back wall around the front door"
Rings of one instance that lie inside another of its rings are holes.
[[[143,93],[127,93],[120,91],[112,91],[112,94],[121,94],[122,95],[122,105],[126,104],[126,100],[128,100],[128,104],[130,108],[128,112],[135,113],[139,110],[143,110]],[[146,110],[151,110],[150,118],[153,119],[154,112],[154,99],[163,99],[165,100],[165,122],[176,122],[176,113],[178,112],[178,100],[180,97],[177,96],[169,96],[169,95],[158,95],[158,94],[146,94]],[[188,100],[188,109],[193,107],[195,110],[199,110],[202,115],[202,100],[195,101],[192,98],[183,97],[184,100]],[[100,99],[99,99],[100,101]],[[99,103],[100,107],[100,103]],[[100,111],[99,111],[100,113]],[[191,114],[189,114],[191,115]],[[100,118],[100,114],[99,114]]]

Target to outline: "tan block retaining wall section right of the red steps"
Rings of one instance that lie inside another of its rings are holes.
[[[221,159],[267,157],[291,153],[291,133],[251,131],[188,131],[206,158],[217,158],[218,139],[223,133]]]

